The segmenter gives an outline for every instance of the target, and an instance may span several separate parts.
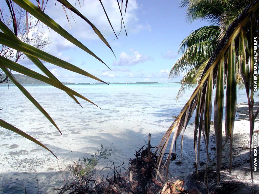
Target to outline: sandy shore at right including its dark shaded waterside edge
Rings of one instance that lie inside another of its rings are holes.
[[[255,107],[258,107],[258,103]],[[254,109],[255,109],[254,107]],[[225,129],[225,123],[222,125],[222,129]],[[211,127],[211,131],[213,126]],[[255,121],[254,131],[259,131],[259,119]],[[213,130],[214,133],[214,130]],[[212,139],[214,138],[212,135]],[[225,130],[222,131],[222,139],[225,139]],[[230,183],[232,188],[237,194],[243,193],[258,193],[259,192],[259,171],[253,173],[253,183],[251,181],[250,174],[250,162],[249,162],[249,140],[250,140],[250,128],[249,128],[249,114],[248,104],[239,103],[236,109],[236,121],[234,124],[234,139],[233,139],[233,158],[232,158],[232,174],[229,173],[229,154],[230,154],[230,141],[226,143],[222,152],[222,168],[220,171],[221,181],[223,184]],[[209,186],[216,183],[216,165],[215,160],[212,160],[208,168],[209,171]],[[258,160],[258,156],[257,156]],[[189,184],[197,185],[204,189],[202,178],[196,180],[195,173],[191,174],[188,178]],[[227,185],[227,184],[225,184]],[[235,185],[235,186],[233,186]]]

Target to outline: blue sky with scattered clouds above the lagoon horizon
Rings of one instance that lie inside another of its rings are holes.
[[[32,0],[32,2],[35,3],[36,1]],[[74,1],[69,2],[75,6]],[[121,16],[117,1],[106,0],[102,2],[118,35],[121,30]],[[125,10],[126,1],[123,3],[123,10]],[[6,6],[5,2],[0,5],[1,8]],[[72,14],[72,17],[70,12],[66,10],[71,23],[70,26],[59,2],[56,1],[55,6],[54,1],[48,1],[45,13],[102,59],[112,71],[52,29],[40,25],[39,30],[44,32],[44,36],[49,37],[53,42],[44,51],[80,67],[105,82],[111,83],[180,81],[183,76],[168,79],[172,65],[181,56],[181,53],[177,54],[179,44],[192,30],[207,25],[207,22],[200,20],[190,24],[186,19],[185,8],[180,9],[178,1],[129,0],[124,16],[128,36],[126,36],[123,28],[118,39],[116,39],[99,1],[84,0],[84,3],[81,1],[81,8],[76,1],[76,9],[104,35],[116,58],[83,19],[75,14]],[[19,63],[41,73],[30,61],[21,60]],[[44,64],[61,81],[72,83],[97,82],[53,64],[46,62]]]

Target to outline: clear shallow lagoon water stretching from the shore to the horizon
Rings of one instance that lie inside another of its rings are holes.
[[[136,147],[142,147],[151,133],[151,144],[156,145],[167,128],[189,99],[185,92],[181,101],[175,97],[180,84],[118,84],[69,85],[78,93],[95,102],[100,108],[79,99],[83,108],[66,93],[49,85],[24,85],[42,107],[51,115],[63,135],[35,108],[15,86],[0,85],[1,119],[28,133],[55,152],[62,162],[89,157],[100,148],[114,146],[109,157],[116,166],[134,158]],[[239,91],[238,102],[246,102],[244,91]],[[213,115],[212,115],[213,118]],[[213,119],[212,119],[213,120]],[[193,122],[193,118],[190,123]],[[143,139],[142,139],[143,138]],[[56,193],[60,186],[55,173],[55,157],[40,146],[0,128],[0,193],[37,193],[38,174],[40,193]],[[189,174],[194,170],[193,125],[188,125],[184,136],[182,166],[170,165],[173,176]],[[178,145],[178,160],[181,152]],[[202,148],[201,158],[206,157]],[[190,151],[191,150],[191,151]],[[110,164],[104,160],[101,166]]]

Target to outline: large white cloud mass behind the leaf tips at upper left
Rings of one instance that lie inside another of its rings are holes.
[[[121,29],[121,16],[118,8],[118,3],[114,0],[107,0],[103,1],[103,5],[115,32],[118,35]],[[73,4],[73,6],[75,5]],[[86,0],[84,1],[84,3],[81,4],[81,6],[82,8],[80,8],[77,3],[76,9],[80,11],[100,30],[106,40],[109,41],[115,37],[112,28],[106,18],[102,5],[99,1]],[[125,9],[125,3],[123,5],[123,8]],[[129,34],[137,33],[143,30],[151,31],[151,26],[148,23],[141,24],[139,18],[137,17],[137,13],[141,9],[141,5],[139,5],[136,0],[131,0],[128,2],[127,12],[123,18],[126,31]],[[72,13],[74,18],[73,19],[70,12],[67,10],[68,17],[71,22],[70,30],[69,23],[66,19],[66,14],[64,13],[62,5],[59,2],[56,2],[56,6],[54,1],[48,2],[45,12],[78,40],[100,40],[100,38],[93,31],[92,27],[85,20]],[[63,59],[64,61],[73,62],[74,59],[70,57],[69,54],[65,54],[64,52],[64,50],[75,49],[76,46],[73,43],[64,39],[62,36],[54,32],[51,28],[47,28],[47,26],[44,24],[40,23],[38,28],[40,31],[44,32],[45,38],[49,37],[51,41],[53,41],[53,44],[49,45],[49,47],[46,49],[46,52],[49,52],[52,55]]]

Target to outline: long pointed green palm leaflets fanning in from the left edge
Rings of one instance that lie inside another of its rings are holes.
[[[63,38],[67,39],[71,43],[75,44],[78,48],[81,48],[85,52],[89,53],[90,55],[92,55],[93,57],[98,59],[100,62],[104,63],[97,55],[95,55],[83,43],[81,43],[74,36],[69,34],[64,28],[62,28],[59,24],[57,24],[56,21],[54,21],[46,13],[44,13],[44,10],[46,8],[46,4],[44,6],[44,2],[42,2],[41,6],[40,6],[40,4],[38,4],[38,7],[37,7],[32,2],[30,2],[29,0],[12,0],[12,1],[15,2],[21,9],[24,9],[26,11],[26,15],[27,15],[27,12],[28,12],[29,14],[34,16],[36,18],[36,20],[41,21],[42,23],[47,25],[49,28],[52,28],[59,35],[63,36]],[[45,83],[47,83],[49,85],[52,85],[52,86],[54,86],[56,88],[59,88],[59,89],[63,90],[64,92],[66,92],[78,104],[80,104],[80,103],[75,98],[75,96],[77,96],[77,97],[79,97],[79,98],[81,98],[83,100],[86,100],[86,101],[92,103],[93,105],[96,105],[91,100],[85,98],[81,94],[75,92],[74,90],[68,88],[67,86],[64,86],[47,69],[47,67],[40,61],[40,59],[43,60],[43,61],[52,63],[54,65],[57,65],[57,66],[59,66],[61,68],[64,68],[64,69],[67,69],[67,70],[70,70],[70,71],[82,74],[84,76],[90,77],[90,78],[95,79],[97,81],[101,81],[103,83],[106,83],[106,82],[104,82],[103,80],[97,78],[96,76],[93,76],[92,74],[84,71],[83,69],[78,68],[77,66],[75,66],[75,65],[73,65],[71,63],[63,61],[60,58],[54,57],[53,55],[51,55],[49,53],[46,53],[46,52],[44,52],[44,51],[42,51],[42,50],[40,50],[38,48],[35,48],[35,47],[33,47],[33,46],[31,46],[29,44],[26,44],[25,42],[21,41],[17,37],[17,28],[18,27],[17,27],[16,20],[15,20],[15,12],[13,11],[12,6],[10,6],[11,5],[10,2],[6,1],[7,5],[9,6],[9,11],[10,11],[10,13],[12,15],[12,18],[13,18],[12,19],[13,20],[13,27],[11,26],[10,28],[8,28],[8,26],[5,25],[4,21],[0,20],[0,30],[1,30],[0,31],[0,43],[2,45],[6,46],[6,47],[15,49],[15,50],[17,50],[19,52],[23,52],[43,73],[45,73],[45,75],[47,77],[43,76],[43,75],[41,75],[41,74],[39,74],[39,73],[37,73],[35,71],[32,71],[32,70],[26,68],[23,65],[20,65],[20,64],[14,62],[14,61],[11,61],[10,59],[8,59],[8,58],[6,58],[4,56],[0,56],[0,68],[3,70],[3,72],[5,72],[6,76],[8,76],[13,81],[13,83],[20,89],[20,91],[33,103],[33,105],[35,107],[37,107],[41,111],[41,113],[45,117],[47,117],[48,120],[59,130],[59,128],[57,127],[55,122],[48,115],[48,113],[44,110],[44,108],[42,108],[39,105],[39,103],[33,98],[33,96],[20,83],[18,83],[18,81],[15,79],[15,77],[11,74],[10,70],[19,72],[19,73],[24,74],[26,76],[29,76],[29,77],[38,79],[40,81],[43,81],[43,82],[45,82]],[[106,46],[109,47],[112,50],[112,48],[110,47],[109,43],[106,41],[104,36],[100,33],[100,31],[95,27],[95,25],[93,25],[91,23],[91,21],[89,21],[79,11],[77,11],[76,8],[73,5],[71,5],[67,0],[58,0],[58,2],[60,2],[64,7],[66,7],[70,11],[73,11],[75,14],[77,14],[83,20],[85,20],[92,27],[93,31],[99,36],[99,38],[106,44]],[[126,6],[125,6],[125,9],[126,9]],[[105,11],[105,9],[104,9],[104,11]],[[121,12],[122,12],[122,10],[121,10]],[[107,16],[107,14],[106,14],[106,16]],[[26,17],[28,17],[28,16],[26,16]],[[122,15],[121,15],[121,17],[122,17]],[[2,18],[3,18],[3,16],[2,16]],[[107,16],[107,19],[109,20],[108,16]],[[37,24],[38,24],[38,22],[36,23],[36,25]],[[12,31],[14,31],[14,33]],[[25,138],[33,141],[34,143],[37,143],[38,145],[42,146],[46,150],[48,150],[51,153],[53,153],[46,146],[41,144],[39,141],[37,141],[33,137],[29,136],[28,134],[24,133],[20,129],[17,129],[15,126],[12,126],[11,124],[6,123],[5,121],[3,121],[1,119],[0,119],[0,126],[5,128],[5,129],[11,130],[13,132],[16,132],[16,133],[24,136]],[[60,133],[61,133],[61,131],[60,131]]]

